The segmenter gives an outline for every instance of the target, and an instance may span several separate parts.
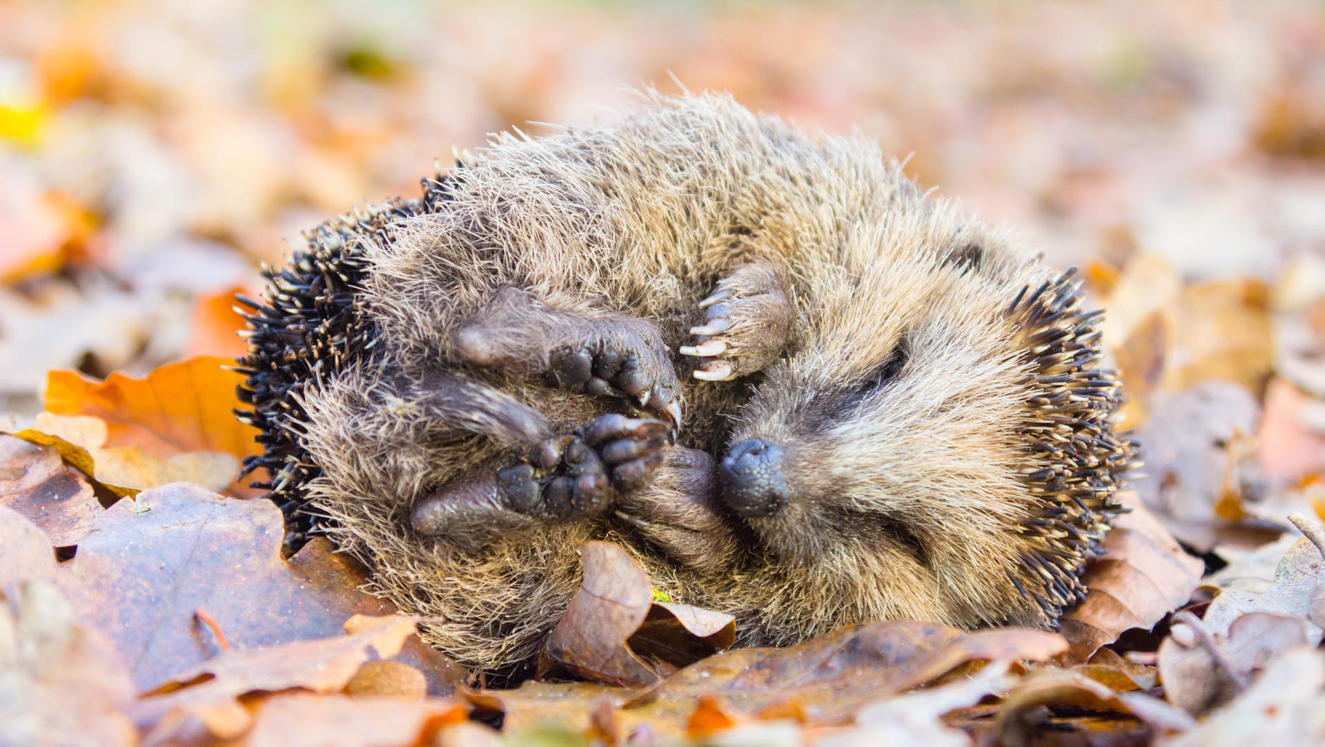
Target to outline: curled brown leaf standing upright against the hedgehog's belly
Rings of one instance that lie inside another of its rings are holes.
[[[685,666],[735,640],[730,615],[656,604],[648,575],[610,542],[580,546],[584,579],[545,645],[545,672],[564,668],[608,685],[652,685],[656,661]]]

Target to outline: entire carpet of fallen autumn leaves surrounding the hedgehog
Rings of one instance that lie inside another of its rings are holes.
[[[1060,630],[730,649],[588,543],[498,689],[325,538],[282,558],[233,294],[453,147],[673,75],[1083,266],[1145,477]],[[1322,81],[1310,0],[0,3],[0,744],[1325,743]]]

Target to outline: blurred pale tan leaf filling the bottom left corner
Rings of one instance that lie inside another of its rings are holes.
[[[132,697],[114,646],[78,622],[53,584],[0,585],[0,742],[135,744],[121,713]]]

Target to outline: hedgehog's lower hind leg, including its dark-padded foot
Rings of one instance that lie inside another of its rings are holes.
[[[603,415],[514,460],[488,462],[415,503],[415,531],[466,547],[543,521],[600,514],[648,485],[662,464],[668,425]]]

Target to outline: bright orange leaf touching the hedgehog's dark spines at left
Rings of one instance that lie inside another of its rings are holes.
[[[166,458],[187,452],[223,452],[236,457],[261,450],[257,430],[232,412],[242,376],[223,368],[227,358],[168,363],[143,379],[111,374],[93,381],[73,371],[52,371],[45,407],[56,415],[91,416],[106,423],[106,448],[136,446]]]

